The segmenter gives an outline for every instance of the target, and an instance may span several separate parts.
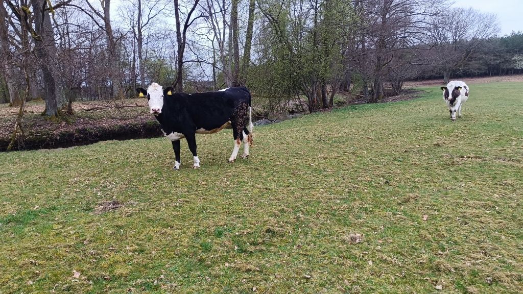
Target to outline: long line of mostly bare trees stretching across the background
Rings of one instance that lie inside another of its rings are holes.
[[[116,101],[247,85],[261,109],[376,103],[420,78],[521,73],[523,35],[447,0],[5,0],[0,102]]]

